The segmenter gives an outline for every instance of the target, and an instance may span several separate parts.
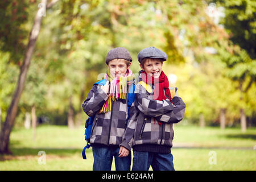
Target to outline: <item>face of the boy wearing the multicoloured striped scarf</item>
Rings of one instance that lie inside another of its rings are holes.
[[[113,77],[121,77],[125,76],[127,69],[130,68],[131,63],[129,66],[126,64],[126,60],[124,59],[113,59],[109,61],[109,71]]]

